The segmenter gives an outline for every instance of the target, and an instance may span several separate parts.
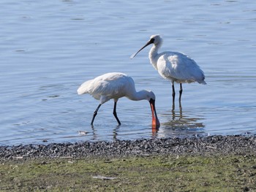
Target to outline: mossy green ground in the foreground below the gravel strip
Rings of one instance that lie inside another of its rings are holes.
[[[0,183],[0,191],[256,191],[256,155],[2,161]]]

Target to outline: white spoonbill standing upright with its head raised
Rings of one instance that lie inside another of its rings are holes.
[[[181,94],[182,94],[182,84],[184,82],[199,82],[201,84],[206,84],[205,76],[200,67],[195,63],[192,58],[184,55],[183,53],[165,51],[162,53],[157,53],[159,48],[162,46],[162,37],[157,35],[152,35],[150,40],[144,45],[140,50],[153,44],[151,50],[148,53],[148,58],[151,64],[154,66],[159,74],[167,80],[172,82],[173,88],[173,104],[175,99],[175,89],[174,82],[180,83],[179,90],[179,103],[181,105]],[[131,55],[130,58],[134,58],[139,52]]]

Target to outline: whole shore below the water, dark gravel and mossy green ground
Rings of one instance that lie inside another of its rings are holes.
[[[255,191],[256,136],[0,146],[0,191]]]

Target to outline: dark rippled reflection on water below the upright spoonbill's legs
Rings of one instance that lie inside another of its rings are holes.
[[[190,113],[190,114],[189,114]],[[203,118],[192,117],[193,113],[183,111],[181,104],[176,110],[173,105],[172,110],[162,114],[166,122],[162,123],[162,128],[159,130],[158,137],[185,137],[205,135],[203,130]]]

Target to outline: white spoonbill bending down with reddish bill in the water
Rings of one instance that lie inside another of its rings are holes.
[[[114,99],[113,115],[120,125],[120,120],[116,115],[116,103],[123,96],[133,101],[148,100],[152,112],[152,128],[159,128],[160,126],[154,104],[156,96],[152,91],[142,90],[137,92],[135,90],[135,82],[127,74],[118,72],[106,73],[96,77],[94,80],[83,82],[78,88],[78,94],[83,93],[89,93],[94,99],[99,100],[99,106],[91,120],[91,126],[93,126],[99,107],[110,99]]]

